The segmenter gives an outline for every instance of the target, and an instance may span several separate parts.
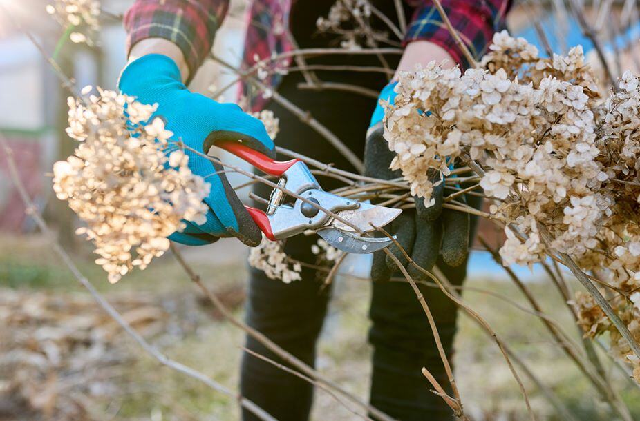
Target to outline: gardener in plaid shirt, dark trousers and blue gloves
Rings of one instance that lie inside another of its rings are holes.
[[[250,68],[256,59],[292,50],[290,37],[299,48],[327,48],[337,45],[336,36],[319,34],[316,21],[328,15],[334,0],[256,0],[250,10],[244,66]],[[292,3],[292,4],[290,4]],[[350,2],[345,2],[350,3]],[[353,2],[355,3],[355,2]],[[399,27],[395,1],[372,0],[370,3]],[[487,48],[493,32],[503,26],[508,0],[442,0],[444,8],[467,43],[469,50],[479,57]],[[273,154],[274,144],[260,121],[243,113],[233,104],[218,104],[185,87],[211,50],[218,26],[227,12],[227,0],[137,0],[126,13],[125,26],[129,32],[129,65],[120,77],[122,92],[138,97],[147,104],[158,104],[158,114],[167,119],[167,128],[176,139],[203,147],[203,141],[243,139],[245,144]],[[381,68],[382,61],[399,70],[413,70],[416,63],[448,60],[448,66],[468,66],[464,55],[442,23],[440,14],[429,0],[413,1],[402,10],[408,21],[404,34],[404,54],[385,55],[321,55],[306,60],[308,66],[366,66]],[[375,17],[371,18],[374,33],[388,31]],[[286,30],[287,28],[290,31]],[[370,32],[371,33],[371,32]],[[384,42],[381,46],[388,46]],[[288,59],[276,61],[285,67]],[[295,66],[299,63],[294,61]],[[393,102],[393,86],[384,72],[314,71],[316,81],[330,81],[341,86],[359,86],[361,91],[381,92],[382,99]],[[281,69],[282,70],[282,69]],[[314,79],[312,79],[314,81]],[[398,177],[388,170],[392,154],[382,139],[384,112],[369,95],[352,90],[303,89],[308,81],[298,71],[282,77],[272,73],[256,88],[245,81],[243,93],[250,108],[267,107],[280,119],[278,144],[296,150],[338,168],[355,170],[346,158],[330,146],[326,139],[282,106],[269,101],[268,90],[277,88],[279,94],[326,126],[353,153],[364,157],[366,174],[390,179]],[[373,117],[372,117],[373,112]],[[370,130],[368,130],[370,128]],[[207,150],[203,150],[207,152]],[[255,246],[261,233],[245,212],[223,173],[215,175],[210,161],[190,154],[189,167],[194,173],[207,176],[211,193],[205,202],[211,210],[204,225],[187,224],[184,233],[170,238],[183,244],[209,244],[218,237],[235,236],[245,244]],[[220,168],[218,168],[220,169]],[[335,179],[319,179],[327,190],[335,188]],[[255,192],[265,197],[265,186]],[[431,268],[437,266],[453,284],[461,284],[466,275],[466,255],[473,221],[469,228],[466,215],[442,210],[440,200],[428,210],[417,201],[417,212],[406,210],[388,227],[395,233],[414,260]],[[462,199],[462,198],[460,198]],[[471,202],[472,197],[467,199]],[[473,203],[478,206],[477,203]],[[442,238],[444,236],[444,241]],[[288,239],[285,251],[294,259],[315,263],[311,244],[315,237],[299,235]],[[444,253],[441,253],[441,244]],[[397,253],[397,251],[396,251]],[[447,262],[442,255],[448,256]],[[399,253],[397,253],[400,257]],[[406,261],[404,261],[406,263]],[[400,420],[444,420],[451,418],[451,409],[442,398],[431,393],[429,382],[420,370],[426,366],[440,384],[448,384],[442,369],[433,334],[424,312],[410,286],[403,282],[386,282],[392,275],[393,262],[378,254],[372,268],[373,296],[370,306],[372,326],[369,333],[373,345],[373,378],[370,402]],[[422,275],[411,265],[414,277]],[[267,279],[264,273],[250,273],[247,302],[247,322],[274,342],[307,364],[314,364],[315,345],[326,315],[328,289],[321,288],[326,273],[305,268],[303,280],[292,284]],[[451,357],[455,333],[456,309],[437,288],[421,286],[429,303],[444,345]],[[251,337],[247,347],[277,360],[278,358]],[[251,355],[244,355],[241,375],[242,394],[256,402],[279,420],[305,420],[312,403],[312,386]],[[243,413],[245,420],[253,419]]]

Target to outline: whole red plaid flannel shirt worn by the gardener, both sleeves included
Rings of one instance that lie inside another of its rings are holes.
[[[254,0],[249,10],[243,66],[292,50],[289,31],[289,10],[295,0]],[[303,0],[297,0],[303,1]],[[391,0],[389,0],[391,1]],[[404,44],[423,39],[437,43],[449,51],[456,62],[466,68],[467,61],[455,45],[431,0],[406,0],[415,6],[407,27]],[[505,15],[511,0],[442,0],[453,27],[467,44],[474,57],[480,58],[493,33],[505,27]],[[227,13],[229,0],[135,0],[124,15],[128,34],[127,50],[138,41],[160,37],[176,43],[185,55],[191,75],[205,60],[216,30]],[[290,59],[276,66],[286,68]],[[281,75],[273,72],[265,80],[276,88]],[[245,87],[246,88],[246,87]],[[263,108],[263,97],[252,99],[252,110]]]

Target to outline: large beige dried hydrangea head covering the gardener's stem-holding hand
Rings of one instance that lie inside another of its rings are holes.
[[[396,105],[387,106],[385,119],[385,138],[397,153],[391,168],[402,170],[411,193],[429,203],[428,171],[446,176],[449,159],[471,157],[486,169],[484,194],[505,201],[495,208],[499,216],[531,236],[521,241],[507,232],[501,251],[507,262],[531,264],[543,256],[536,239],[540,222],[555,248],[585,253],[610,202],[599,193],[605,173],[595,161],[591,97],[583,86],[556,77],[572,72],[572,81],[587,80],[576,76],[586,72],[576,64],[581,52],[572,50],[567,60],[538,59],[527,41],[500,32],[482,62],[491,71],[462,75],[432,62],[400,76]]]

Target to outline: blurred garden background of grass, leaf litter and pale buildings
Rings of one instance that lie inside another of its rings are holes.
[[[239,64],[243,45],[243,10],[248,1],[234,0],[218,32],[214,50]],[[617,75],[638,72],[640,34],[635,1],[587,2],[587,15],[601,39]],[[95,45],[71,43],[63,28],[46,13],[46,0],[0,0],[0,134],[12,148],[28,193],[55,228],[59,242],[97,288],[133,326],[167,355],[203,371],[234,388],[243,335],[212,312],[200,299],[170,256],[145,271],[133,271],[115,285],[93,264],[91,244],[74,234],[79,222],[53,195],[50,171],[75,147],[66,137],[66,96],[59,80],[28,35],[45,55],[55,59],[77,86],[91,84],[114,89],[126,63],[125,35],[120,16],[131,1],[102,1],[101,30]],[[583,44],[594,67],[592,43],[561,0],[516,2],[509,16],[512,33],[522,35],[543,51],[534,21],[539,21],[556,52]],[[9,13],[6,13],[9,12]],[[234,75],[207,62],[191,88],[213,92]],[[234,101],[229,89],[225,100]],[[373,104],[372,104],[373,108]],[[225,157],[225,159],[231,159]],[[233,182],[242,182],[236,178]],[[245,198],[246,199],[246,198]],[[488,229],[488,228],[487,228]],[[189,262],[205,275],[207,284],[241,317],[247,251],[233,240],[185,248]],[[487,318],[520,358],[556,391],[581,420],[610,420],[614,416],[574,365],[546,335],[525,306],[518,288],[489,253],[473,252],[464,298]],[[539,268],[514,268],[538,291],[545,311],[579,340],[561,298],[548,290]],[[330,317],[323,331],[318,366],[358,395],[368,393],[370,353],[366,257],[343,264],[335,280]],[[274,281],[279,282],[279,281]],[[461,317],[454,362],[462,398],[478,420],[527,419],[518,388],[495,344]],[[609,375],[637,419],[637,386],[603,357]],[[560,419],[525,380],[540,419]],[[0,159],[0,420],[234,420],[236,402],[212,393],[140,353],[115,323],[93,304],[53,254],[48,239],[25,214],[25,208]],[[323,392],[317,393],[315,420],[350,420],[353,415]]]

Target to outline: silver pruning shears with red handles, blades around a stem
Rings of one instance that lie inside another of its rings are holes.
[[[346,253],[359,254],[379,251],[393,242],[384,237],[364,237],[359,231],[368,233],[376,227],[385,226],[400,215],[402,210],[366,204],[328,193],[322,190],[308,166],[300,159],[274,161],[237,141],[218,142],[216,146],[264,173],[279,177],[277,185],[280,188],[272,191],[266,211],[245,206],[268,239],[276,241],[311,230],[331,246]],[[292,197],[283,190],[298,197]]]

